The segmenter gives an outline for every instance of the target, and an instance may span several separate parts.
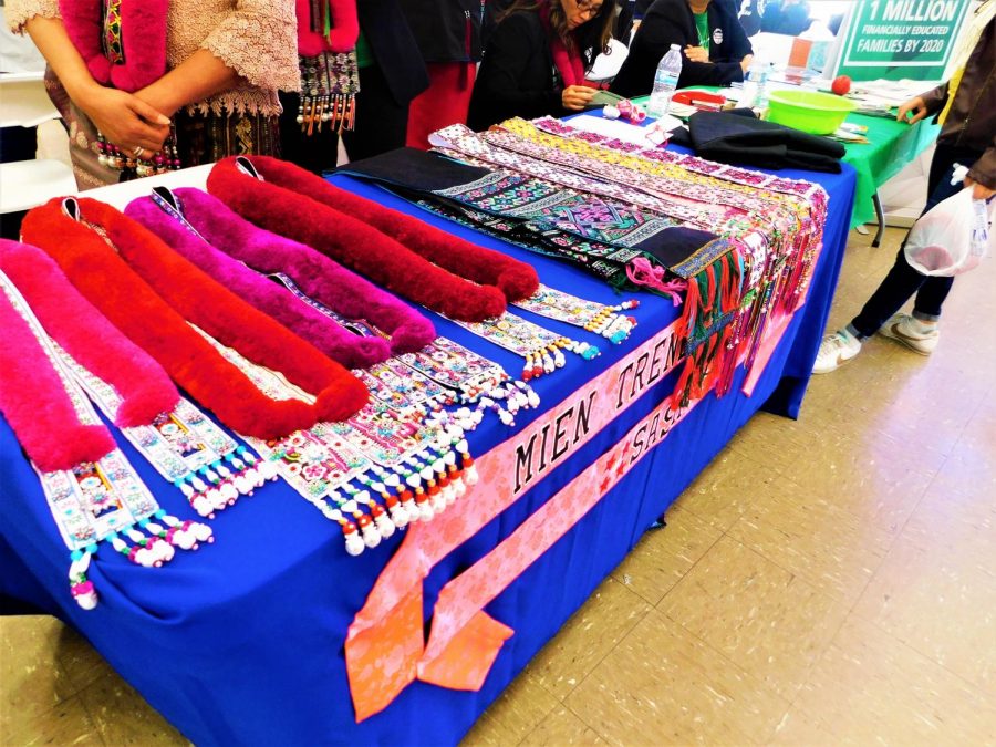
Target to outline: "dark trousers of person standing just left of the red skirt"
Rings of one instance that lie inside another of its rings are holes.
[[[377,65],[361,68],[356,126],[352,132],[342,134],[350,160],[362,160],[402,148],[407,132],[408,102],[402,105],[394,100]]]

